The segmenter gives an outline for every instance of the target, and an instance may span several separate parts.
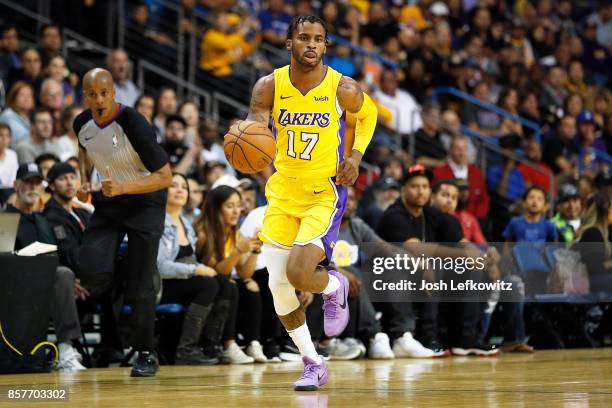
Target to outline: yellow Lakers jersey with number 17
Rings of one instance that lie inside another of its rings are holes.
[[[274,70],[274,167],[284,176],[336,175],[344,154],[345,115],[336,98],[342,74],[327,67],[323,81],[303,95],[289,79],[289,65]]]

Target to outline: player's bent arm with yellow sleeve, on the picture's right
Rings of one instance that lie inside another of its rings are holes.
[[[370,97],[361,91],[354,79],[349,77],[340,79],[338,100],[340,106],[357,119],[353,151],[340,163],[336,177],[336,184],[351,185],[357,180],[359,163],[374,135],[378,112]]]

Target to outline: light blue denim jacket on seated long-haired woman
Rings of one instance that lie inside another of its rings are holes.
[[[195,248],[196,235],[191,222],[182,215],[181,221],[185,226],[185,232],[191,247]],[[170,215],[166,213],[164,233],[159,240],[159,251],[157,252],[157,269],[162,279],[188,279],[195,275],[199,263],[186,264],[175,261],[179,247],[176,226],[172,223]],[[193,259],[196,260],[195,255],[193,255]]]

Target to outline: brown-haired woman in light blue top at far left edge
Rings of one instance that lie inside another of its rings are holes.
[[[30,137],[30,115],[34,111],[34,89],[27,82],[13,84],[6,98],[7,108],[0,113],[0,123],[11,128],[12,147]]]

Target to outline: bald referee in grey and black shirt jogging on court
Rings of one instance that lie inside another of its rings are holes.
[[[132,306],[132,346],[138,352],[132,377],[159,371],[153,351],[157,249],[164,229],[166,188],[172,174],[155,131],[144,116],[115,101],[111,74],[95,68],[83,78],[88,110],[73,123],[79,138],[82,196],[89,193],[92,168],[102,175],[102,194],[94,193],[96,211],[83,236],[79,278],[92,296],[113,287],[115,257],[128,237],[126,300]]]

